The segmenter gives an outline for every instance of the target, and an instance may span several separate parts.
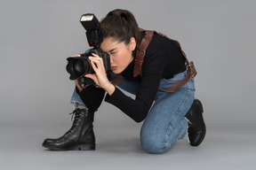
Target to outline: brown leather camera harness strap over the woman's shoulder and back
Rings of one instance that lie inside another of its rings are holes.
[[[156,31],[152,31],[152,30],[144,30],[140,28],[140,32],[144,32],[144,36],[143,39],[140,42],[140,46],[139,48],[137,48],[136,51],[136,57],[135,57],[135,61],[134,61],[134,67],[133,67],[133,77],[136,77],[140,74],[140,76],[142,76],[142,72],[141,72],[141,68],[142,68],[142,64],[143,64],[143,59],[144,56],[146,54],[146,50],[148,48],[148,44],[151,41],[154,33],[158,34],[158,35],[162,35],[165,38],[168,38],[169,40],[171,40],[172,42],[174,42],[181,50],[182,55],[184,56],[184,58],[186,58],[186,66],[187,66],[187,75],[180,81],[176,82],[175,84],[173,84],[170,88],[168,89],[158,89],[160,91],[164,91],[164,92],[174,92],[177,89],[179,89],[181,86],[183,86],[184,84],[186,84],[190,78],[196,77],[196,68],[194,66],[193,61],[189,62],[188,58],[186,56],[186,54],[184,53],[184,51],[181,49],[180,46],[180,42],[176,41],[176,40],[172,40],[171,38],[169,38],[168,36],[162,34],[162,33],[157,33]],[[122,74],[118,74],[114,80],[112,81],[112,84],[114,84],[115,86],[122,81],[123,79],[123,75]]]

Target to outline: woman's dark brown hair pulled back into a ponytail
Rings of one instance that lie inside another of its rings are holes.
[[[100,21],[102,37],[113,38],[118,42],[128,44],[132,37],[137,46],[140,43],[140,29],[132,12],[116,9],[108,12],[107,16]]]

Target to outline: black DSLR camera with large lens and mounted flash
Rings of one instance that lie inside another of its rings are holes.
[[[89,46],[93,48],[88,52],[81,54],[80,57],[67,58],[68,65],[66,66],[66,70],[70,74],[69,79],[76,80],[81,78],[84,85],[95,84],[92,79],[84,77],[84,75],[87,73],[95,73],[89,60],[89,57],[92,56],[92,53],[95,53],[103,59],[108,80],[110,80],[110,57],[107,52],[104,52],[99,48],[100,42],[102,42],[99,20],[94,16],[94,14],[87,13],[82,15],[80,22],[86,30],[86,37]]]

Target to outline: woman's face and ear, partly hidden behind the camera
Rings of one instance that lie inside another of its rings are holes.
[[[100,49],[108,52],[110,56],[110,65],[113,73],[122,73],[132,62],[132,50],[135,47],[136,42],[133,37],[127,45],[112,38],[105,38],[100,44]]]

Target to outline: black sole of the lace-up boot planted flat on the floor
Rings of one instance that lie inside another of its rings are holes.
[[[52,151],[95,151],[96,149],[95,144],[77,144],[69,148],[58,148],[47,143],[43,143],[43,146]]]

